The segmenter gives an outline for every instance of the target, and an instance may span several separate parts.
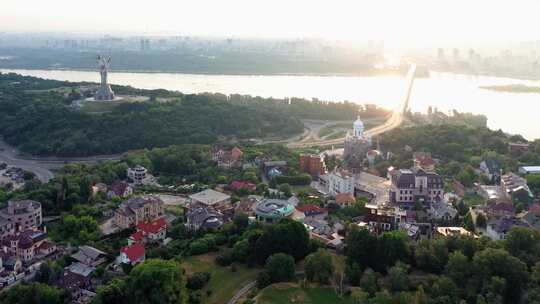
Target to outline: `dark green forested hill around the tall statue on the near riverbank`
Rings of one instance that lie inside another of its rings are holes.
[[[95,114],[70,106],[80,85],[0,74],[1,135],[34,155],[88,156],[173,144],[209,144],[220,137],[292,136],[303,131],[302,118],[352,119],[361,109],[351,103],[184,95],[115,86],[120,94],[159,98],[122,103],[109,112]],[[57,87],[67,87],[68,93],[65,89],[50,90]],[[74,91],[69,93],[71,89]],[[374,107],[364,109],[364,113],[387,114]]]

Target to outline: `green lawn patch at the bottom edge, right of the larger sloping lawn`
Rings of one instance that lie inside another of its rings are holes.
[[[257,304],[352,304],[350,298],[339,298],[329,287],[302,289],[297,284],[271,285],[257,296]]]

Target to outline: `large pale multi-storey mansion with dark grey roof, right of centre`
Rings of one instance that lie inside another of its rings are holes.
[[[401,169],[391,174],[390,202],[411,209],[416,202],[429,205],[444,197],[443,179],[422,169]]]

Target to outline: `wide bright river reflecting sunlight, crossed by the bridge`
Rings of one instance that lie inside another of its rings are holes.
[[[92,71],[7,70],[22,75],[68,81],[99,81]],[[348,100],[394,108],[403,94],[404,81],[399,76],[243,76],[194,75],[180,73],[110,72],[111,83],[144,89],[168,89],[183,93],[215,92],[249,94],[262,97],[303,97],[328,101]],[[494,92],[479,86],[525,84],[540,86],[540,81],[500,77],[471,76],[432,72],[429,78],[415,80],[410,105],[413,111],[425,112],[428,106],[441,111],[484,114],[488,126],[527,139],[540,138],[538,113],[540,94]]]

